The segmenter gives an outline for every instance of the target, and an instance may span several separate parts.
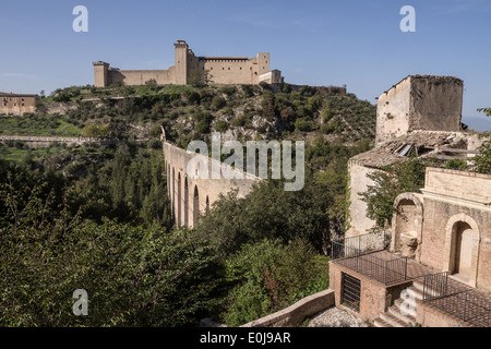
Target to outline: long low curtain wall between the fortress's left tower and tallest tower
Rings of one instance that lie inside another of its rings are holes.
[[[123,82],[125,85],[145,85],[149,80],[156,80],[159,85],[176,83],[175,67],[168,70],[116,70],[108,71],[108,84]]]

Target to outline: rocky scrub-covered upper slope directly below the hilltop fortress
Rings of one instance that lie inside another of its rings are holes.
[[[309,86],[291,91],[287,84],[276,93],[268,85],[69,87],[41,99],[38,113],[51,103],[68,101],[77,108],[58,117],[59,122],[83,134],[155,137],[163,125],[182,147],[208,140],[213,131],[242,142],[323,135],[345,143],[373,139],[375,128],[375,106],[354,94]]]

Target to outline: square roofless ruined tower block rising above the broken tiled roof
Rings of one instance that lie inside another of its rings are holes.
[[[464,82],[409,75],[379,97],[375,146],[411,131],[460,131]]]

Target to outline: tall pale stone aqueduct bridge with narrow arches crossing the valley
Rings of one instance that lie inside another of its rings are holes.
[[[194,227],[199,214],[205,213],[220,194],[225,195],[231,190],[237,190],[238,197],[243,197],[252,190],[252,185],[261,180],[259,177],[230,167],[226,168],[235,176],[227,176],[227,178],[220,176],[219,179],[213,179],[213,166],[224,168],[225,165],[197,153],[188,153],[166,141],[164,156],[172,217],[177,225],[183,227]],[[192,159],[192,165],[188,166]],[[206,170],[207,176],[204,174]],[[238,176],[243,178],[239,179]],[[230,177],[235,178],[228,179]]]

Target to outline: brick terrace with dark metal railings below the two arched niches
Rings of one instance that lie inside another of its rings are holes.
[[[443,316],[464,322],[465,326],[490,326],[489,292],[463,284],[446,272],[441,273],[412,258],[391,253],[388,244],[384,233],[367,233],[332,242],[332,261],[344,270],[339,286],[343,305],[359,313],[376,313],[378,310],[370,309],[373,304],[363,305],[364,310],[360,308],[362,280],[376,281],[381,285],[379,289],[385,289],[384,294],[390,294],[392,300],[399,297],[404,288],[419,284],[422,285],[422,294],[418,299],[423,306],[434,308]],[[392,304],[376,305],[382,311]]]

